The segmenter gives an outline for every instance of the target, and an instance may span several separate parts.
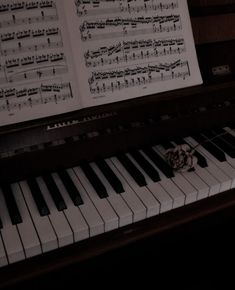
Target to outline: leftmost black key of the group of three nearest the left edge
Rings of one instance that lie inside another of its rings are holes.
[[[41,216],[46,216],[50,214],[50,210],[45,202],[45,199],[42,195],[41,189],[35,178],[27,179],[28,186],[31,190],[33,199],[36,203],[37,209]]]

